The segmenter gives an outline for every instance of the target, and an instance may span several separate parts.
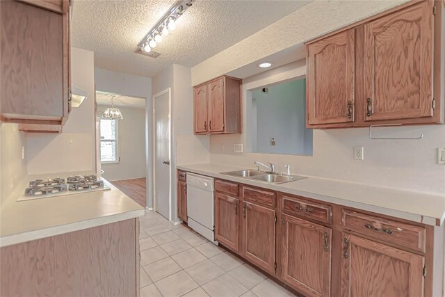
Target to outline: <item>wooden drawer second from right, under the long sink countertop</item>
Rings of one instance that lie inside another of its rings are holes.
[[[329,205],[309,202],[305,199],[282,196],[283,211],[287,214],[296,214],[305,218],[312,218],[330,224],[332,208]]]

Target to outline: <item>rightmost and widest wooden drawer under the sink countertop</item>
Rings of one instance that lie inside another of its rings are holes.
[[[375,239],[425,252],[426,228],[343,209],[341,226]]]

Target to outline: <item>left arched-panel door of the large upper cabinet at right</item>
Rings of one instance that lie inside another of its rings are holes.
[[[355,31],[309,45],[309,125],[354,121]]]

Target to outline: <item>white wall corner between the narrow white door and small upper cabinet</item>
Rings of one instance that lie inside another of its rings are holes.
[[[172,159],[171,170],[171,211],[172,220],[177,217],[177,164],[207,163],[209,157],[209,136],[193,135],[193,88],[191,68],[170,65],[153,78],[153,95],[170,88],[172,119]],[[152,200],[152,187],[149,192]],[[152,201],[149,201],[151,204]]]

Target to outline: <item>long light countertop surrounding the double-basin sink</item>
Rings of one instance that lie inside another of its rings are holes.
[[[178,169],[201,175],[300,195],[378,214],[403,218],[426,225],[442,225],[445,219],[445,196],[381,188],[333,179],[308,177],[285,184],[267,184],[252,179],[223,175],[221,172],[243,170],[237,166],[214,163],[177,166]],[[250,168],[252,169],[252,168]]]

